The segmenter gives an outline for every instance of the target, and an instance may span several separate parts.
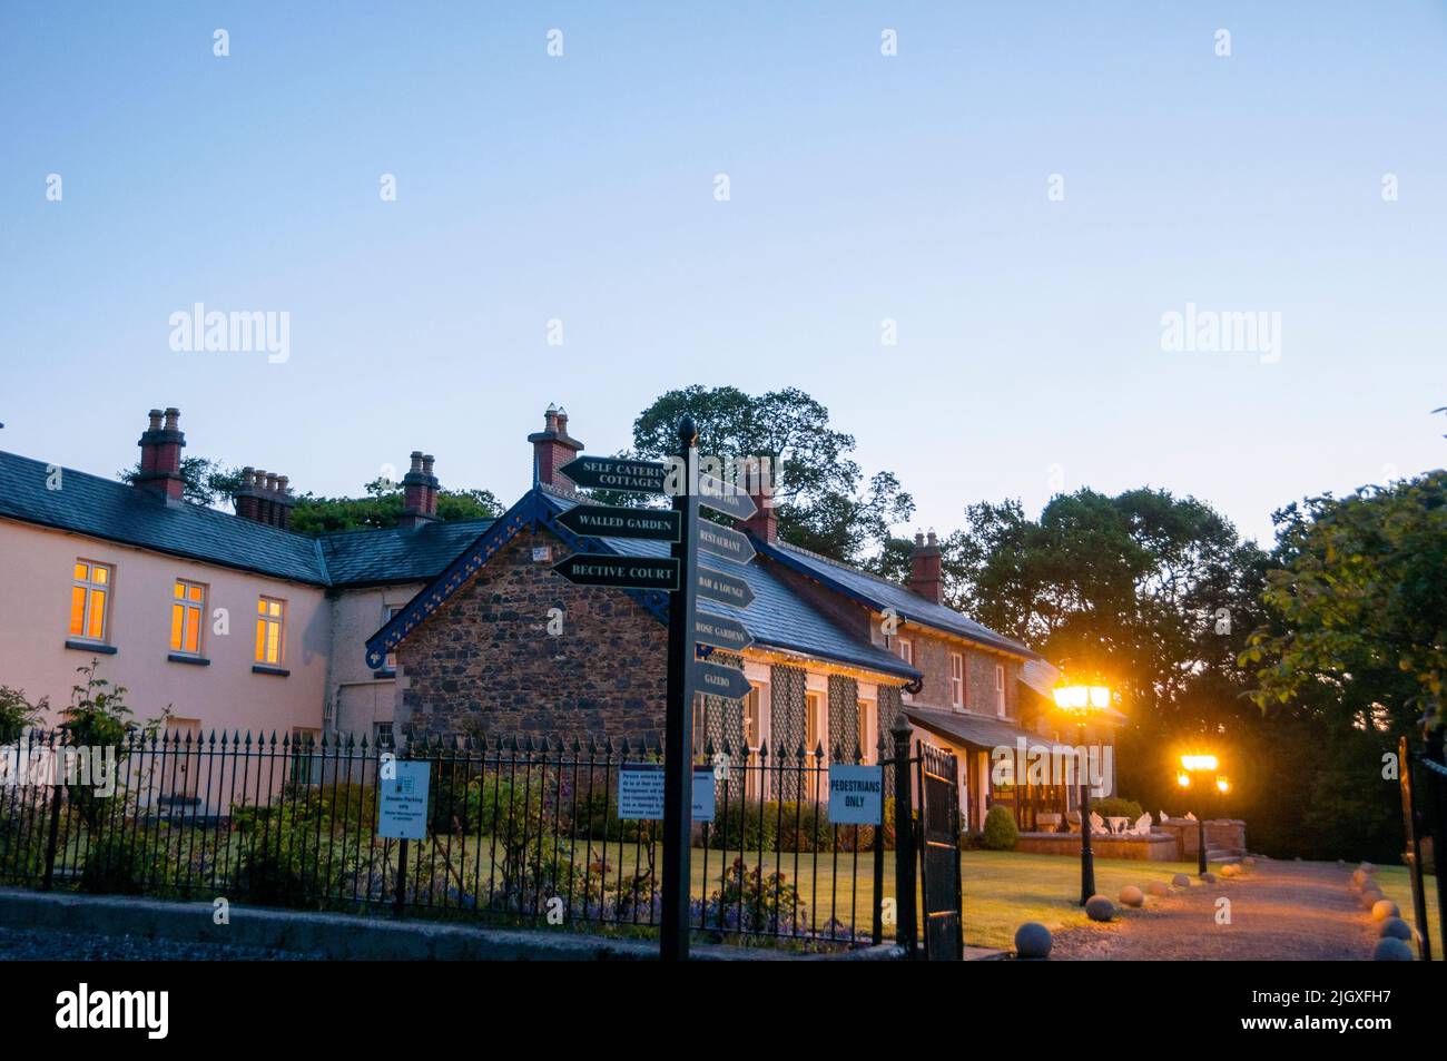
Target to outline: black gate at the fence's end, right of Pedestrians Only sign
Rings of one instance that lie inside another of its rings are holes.
[[[959,961],[965,954],[959,882],[959,763],[952,751],[920,744],[920,883],[925,957]]]

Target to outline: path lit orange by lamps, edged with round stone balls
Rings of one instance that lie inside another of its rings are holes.
[[[1257,861],[1246,877],[1147,896],[1143,910],[1117,923],[1059,932],[1051,957],[1363,961],[1376,925],[1347,889],[1350,879],[1336,863]],[[1221,897],[1231,903],[1230,925],[1215,921]]]

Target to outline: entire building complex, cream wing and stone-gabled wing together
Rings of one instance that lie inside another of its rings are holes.
[[[0,685],[69,699],[77,666],[130,690],[137,719],[187,732],[609,737],[657,740],[667,596],[574,586],[553,565],[586,551],[657,556],[559,524],[579,504],[561,469],[582,450],[550,408],[528,436],[532,488],[496,520],[437,518],[434,460],[412,453],[395,527],[291,530],[287,476],[246,469],[236,514],[182,498],[177,410],[152,411],[133,485],[0,453]],[[522,459],[522,453],[518,455]],[[124,460],[117,460],[124,463]],[[941,601],[939,547],[916,536],[909,585],[778,540],[765,498],[742,530],[742,702],[700,698],[700,750],[864,761],[900,712],[954,748],[978,827],[988,805],[1022,827],[1068,796],[998,785],[993,750],[1053,735],[1049,664]],[[1108,734],[1097,740],[1108,741]]]

